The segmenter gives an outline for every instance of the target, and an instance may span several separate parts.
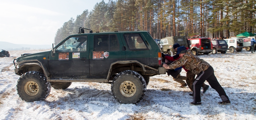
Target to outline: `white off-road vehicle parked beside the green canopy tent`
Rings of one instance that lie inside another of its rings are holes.
[[[229,52],[233,53],[235,50],[241,52],[244,47],[243,38],[228,38],[224,39],[228,43]]]

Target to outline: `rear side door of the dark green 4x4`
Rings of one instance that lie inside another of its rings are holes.
[[[119,33],[92,34],[90,73],[92,78],[107,78],[111,63],[125,60],[125,49]]]

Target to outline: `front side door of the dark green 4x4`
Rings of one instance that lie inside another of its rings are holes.
[[[54,48],[54,56],[48,58],[52,78],[87,78],[90,75],[89,38],[83,34],[70,36]]]

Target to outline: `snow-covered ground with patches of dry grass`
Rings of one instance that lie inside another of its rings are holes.
[[[200,54],[215,70],[215,76],[230,98],[230,105],[211,87],[202,93],[202,105],[191,106],[188,87],[179,88],[172,77],[150,77],[147,92],[138,104],[120,104],[111,94],[111,84],[74,82],[66,90],[52,88],[44,101],[26,103],[17,95],[13,59],[23,53],[46,50],[9,51],[0,58],[0,119],[6,120],[255,120],[256,53]],[[186,76],[182,70],[181,75]],[[207,82],[205,82],[208,84]]]

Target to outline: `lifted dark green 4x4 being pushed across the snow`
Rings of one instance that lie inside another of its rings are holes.
[[[84,29],[80,27],[78,33]],[[20,75],[17,93],[22,100],[33,102],[46,99],[51,87],[111,83],[116,101],[136,104],[145,95],[149,77],[166,73],[161,58],[160,47],[147,31],[90,30],[70,35],[55,47],[52,44],[51,51],[14,59],[15,74]]]

